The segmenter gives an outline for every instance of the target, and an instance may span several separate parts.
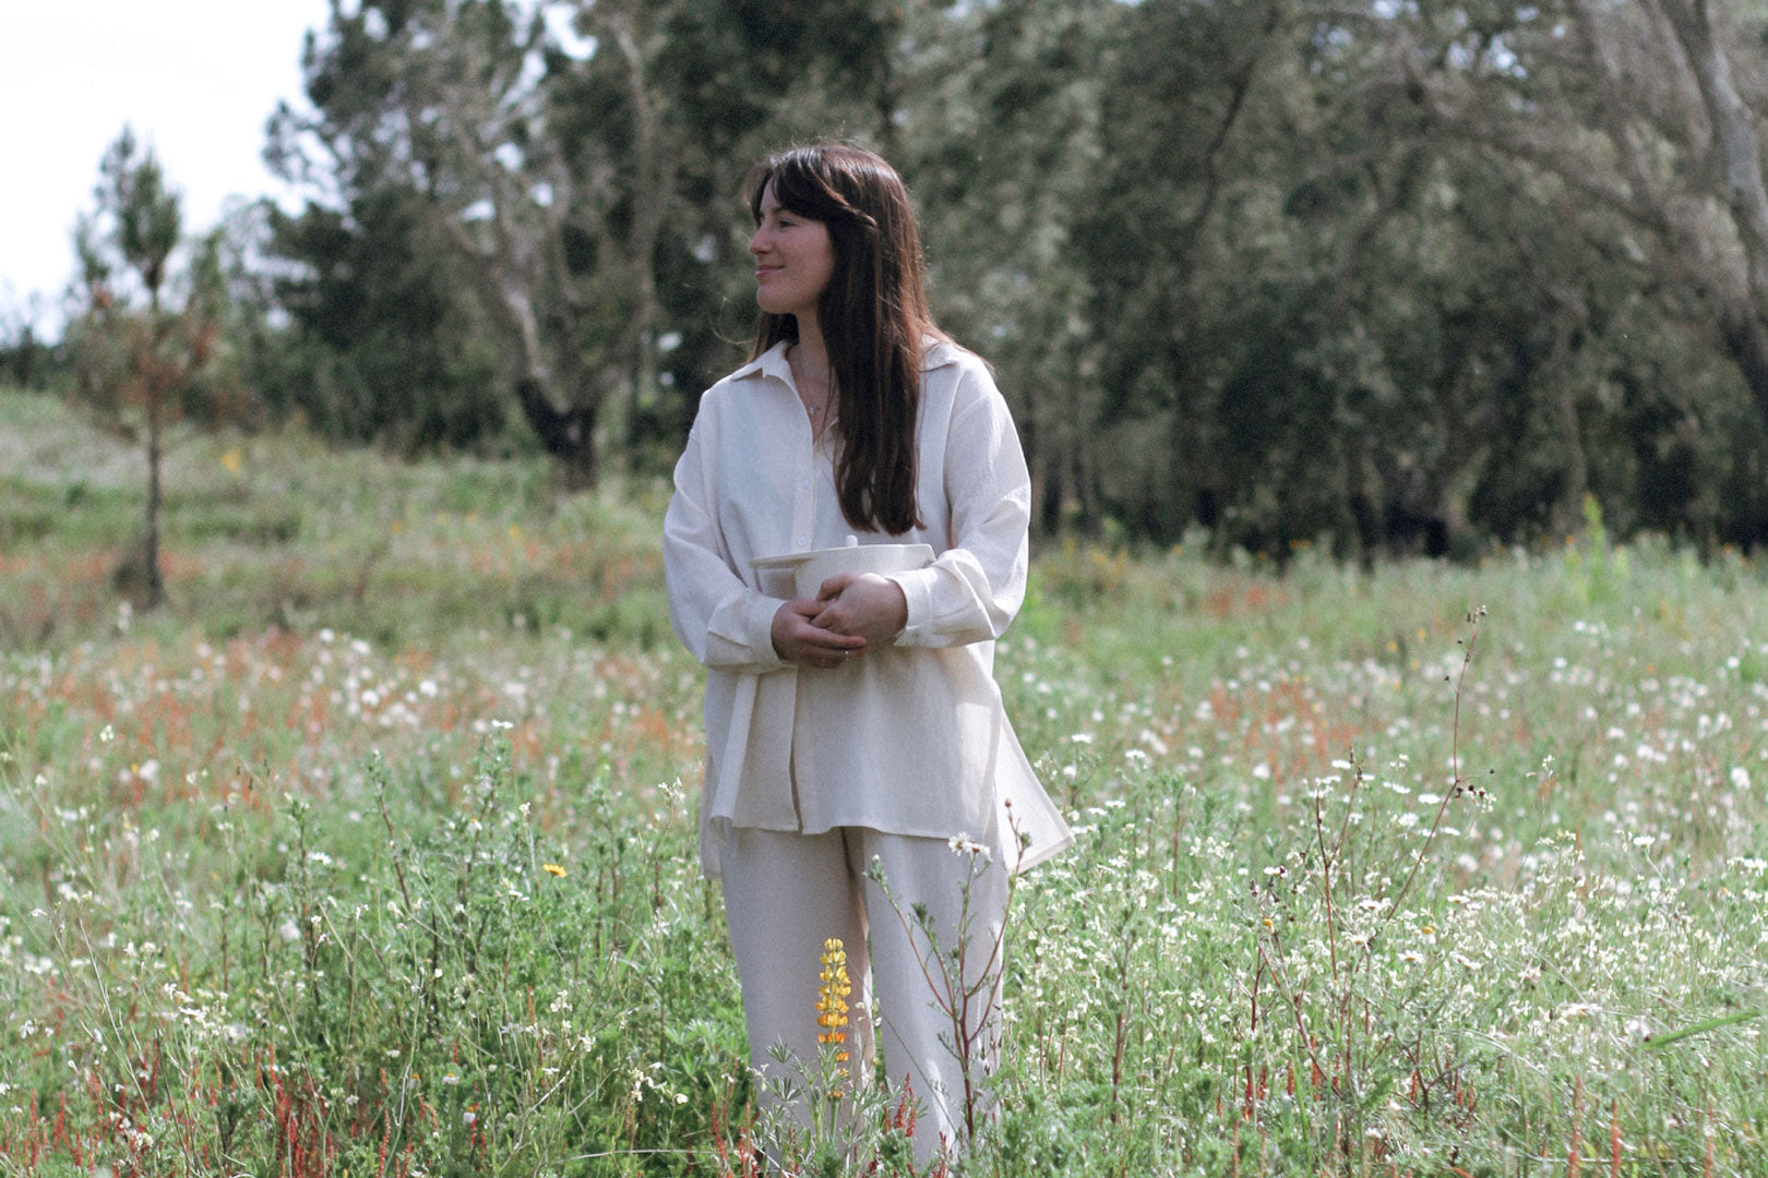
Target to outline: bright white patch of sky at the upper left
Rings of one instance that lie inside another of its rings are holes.
[[[263,124],[301,101],[301,41],[327,0],[0,0],[0,314],[41,291],[58,330],[72,230],[124,124],[184,194],[184,226],[230,196],[290,193]]]

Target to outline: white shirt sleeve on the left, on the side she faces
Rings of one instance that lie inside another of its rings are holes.
[[[789,666],[773,646],[780,600],[743,583],[718,528],[714,447],[697,422],[675,463],[675,495],[663,516],[663,576],[670,625],[695,659],[728,671]]]

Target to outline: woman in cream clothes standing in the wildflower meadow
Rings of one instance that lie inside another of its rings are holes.
[[[888,1074],[932,1118],[925,1157],[974,1129],[1006,876],[1071,842],[992,676],[1025,590],[1025,461],[988,369],[926,311],[889,164],[794,148],[757,166],[750,205],[755,350],[702,397],[663,525],[670,616],[707,668],[702,867],[723,880],[755,1067],[778,1072],[780,1040],[817,1058],[817,966],[840,938],[856,1056],[872,1058],[875,993]],[[849,535],[935,560],[834,576],[815,599],[751,567]],[[956,1021],[916,906],[942,950],[967,943],[981,989]]]

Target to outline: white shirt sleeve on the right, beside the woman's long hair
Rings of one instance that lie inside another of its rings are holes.
[[[891,574],[909,606],[900,646],[962,646],[1001,638],[1025,599],[1031,475],[1006,399],[987,369],[960,376],[941,480],[951,547],[932,565]]]

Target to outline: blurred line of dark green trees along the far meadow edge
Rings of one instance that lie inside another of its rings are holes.
[[[744,355],[748,166],[845,136],[1047,533],[1768,540],[1763,0],[362,0],[304,65],[309,200],[194,251],[187,413],[663,472]],[[14,380],[101,399],[110,313]]]

